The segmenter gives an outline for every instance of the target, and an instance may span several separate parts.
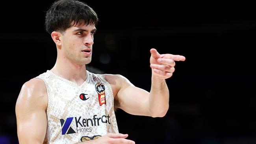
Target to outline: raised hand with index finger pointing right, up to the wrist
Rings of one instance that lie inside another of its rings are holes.
[[[175,61],[185,61],[182,55],[159,54],[156,49],[150,50],[150,67],[152,68],[152,76],[160,79],[167,79],[173,76]]]

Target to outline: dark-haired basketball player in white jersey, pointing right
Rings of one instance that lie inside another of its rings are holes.
[[[16,104],[20,144],[134,144],[118,131],[115,107],[127,113],[162,117],[169,108],[165,79],[181,55],[151,49],[150,92],[135,87],[121,75],[93,74],[93,35],[98,17],[75,0],[59,0],[46,13],[46,31],[57,47],[51,70],[22,86]]]

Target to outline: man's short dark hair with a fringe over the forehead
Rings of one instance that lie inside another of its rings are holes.
[[[48,33],[64,33],[71,26],[96,25],[98,16],[87,4],[78,0],[57,0],[50,6],[45,16],[45,29]]]

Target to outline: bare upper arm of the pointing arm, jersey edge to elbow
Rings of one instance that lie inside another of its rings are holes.
[[[121,75],[107,74],[105,78],[111,84],[115,107],[121,108],[129,114],[150,116],[147,109],[149,92],[135,87]]]

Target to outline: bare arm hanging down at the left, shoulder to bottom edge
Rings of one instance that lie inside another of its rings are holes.
[[[17,99],[15,111],[20,144],[42,144],[45,139],[48,97],[41,79],[24,83]]]

